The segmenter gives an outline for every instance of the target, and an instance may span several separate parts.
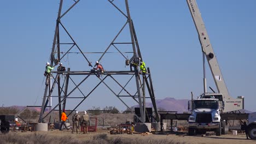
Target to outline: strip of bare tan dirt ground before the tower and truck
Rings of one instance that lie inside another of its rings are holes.
[[[246,140],[246,135],[245,134],[238,134],[238,135],[222,135],[222,136],[216,136],[216,135],[210,135],[210,136],[187,136],[186,133],[183,133],[181,135],[177,134],[165,134],[165,135],[160,135],[160,134],[148,134],[148,135],[142,135],[142,134],[120,134],[120,135],[110,135],[108,133],[108,130],[98,130],[96,133],[90,132],[89,134],[72,134],[71,130],[49,130],[46,132],[31,132],[31,131],[25,131],[21,133],[21,131],[18,132],[13,132],[10,131],[10,133],[16,133],[16,135],[31,135],[34,133],[40,133],[40,134],[46,134],[46,135],[51,135],[51,136],[72,136],[74,139],[78,140],[92,140],[92,137],[98,134],[107,134],[109,138],[115,138],[115,137],[123,137],[123,138],[130,138],[130,139],[164,139],[166,141],[173,141],[173,142],[179,142],[179,143],[224,143],[224,144],[235,144],[235,143],[256,143],[256,140]]]

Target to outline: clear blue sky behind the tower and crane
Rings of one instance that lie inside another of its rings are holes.
[[[63,9],[72,2],[65,0]],[[123,1],[114,2],[125,11]],[[256,1],[197,0],[197,4],[229,93],[234,98],[245,96],[245,109],[256,111]],[[143,59],[152,72],[156,98],[189,99],[191,91],[194,95],[202,93],[201,46],[185,0],[131,0],[129,5]],[[43,73],[49,61],[58,8],[57,0],[1,2],[1,105],[42,104]],[[113,40],[125,19],[106,0],[81,0],[62,22],[84,51],[100,52]],[[119,40],[130,38],[127,34]],[[61,33],[61,40],[70,42],[66,38]],[[90,70],[77,56],[70,54],[63,63],[73,70]],[[94,62],[100,55],[88,57]],[[101,62],[106,70],[128,69],[120,56],[110,54]],[[209,69],[207,82],[216,89]],[[86,91],[87,87],[81,89]],[[127,103],[134,104],[131,100]],[[106,105],[126,109],[102,85],[79,110]]]

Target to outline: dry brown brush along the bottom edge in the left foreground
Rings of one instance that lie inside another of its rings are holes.
[[[113,139],[109,139],[107,134],[98,134],[95,135],[92,140],[77,140],[72,136],[51,136],[47,134],[38,134],[34,133],[32,135],[17,135],[13,133],[9,134],[0,134],[0,144],[51,144],[51,143],[72,143],[72,144],[85,144],[85,143],[92,143],[92,144],[130,144],[130,143],[154,143],[154,144],[178,144],[177,142],[173,142],[168,139],[131,139],[131,138],[124,138],[124,137],[115,137]]]

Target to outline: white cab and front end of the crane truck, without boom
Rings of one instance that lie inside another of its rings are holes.
[[[188,134],[216,131],[216,135],[227,134],[225,121],[222,122],[221,113],[224,109],[221,93],[203,93],[200,98],[189,101],[188,109],[191,115],[188,118]],[[222,132],[222,123],[225,125]]]

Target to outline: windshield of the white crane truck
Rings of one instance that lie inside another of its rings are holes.
[[[195,100],[194,109],[218,109],[217,100]]]

